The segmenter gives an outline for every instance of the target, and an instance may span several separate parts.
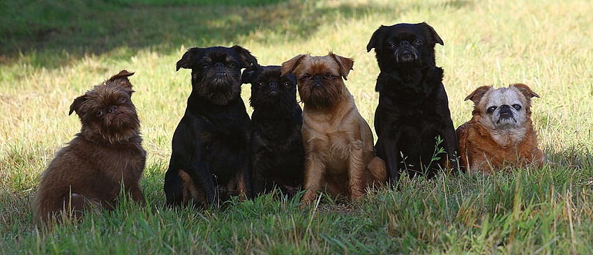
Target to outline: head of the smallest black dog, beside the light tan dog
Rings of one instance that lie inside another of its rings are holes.
[[[287,106],[292,109],[296,103],[296,78],[290,73],[283,76],[281,69],[279,65],[269,65],[243,72],[243,83],[251,84],[251,107]]]

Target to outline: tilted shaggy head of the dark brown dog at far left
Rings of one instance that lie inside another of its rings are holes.
[[[70,114],[76,111],[80,118],[84,137],[113,144],[139,132],[140,121],[131,100],[134,91],[128,80],[130,75],[133,72],[122,70],[70,105]]]

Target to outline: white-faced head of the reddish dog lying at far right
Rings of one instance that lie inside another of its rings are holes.
[[[494,89],[481,86],[465,100],[474,101],[474,116],[492,130],[509,130],[525,126],[531,116],[531,98],[536,93],[524,84],[513,84],[508,88]]]

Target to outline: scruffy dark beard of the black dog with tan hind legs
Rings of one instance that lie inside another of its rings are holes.
[[[216,72],[207,70],[194,89],[200,97],[206,98],[215,105],[227,105],[241,94],[241,77],[236,77],[230,72],[226,72],[226,75],[217,75]]]

